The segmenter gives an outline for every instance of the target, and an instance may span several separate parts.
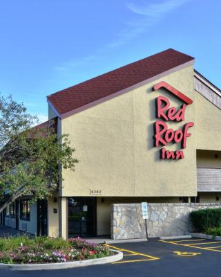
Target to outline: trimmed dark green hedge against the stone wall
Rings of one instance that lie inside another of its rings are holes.
[[[191,212],[191,221],[196,231],[204,232],[209,228],[221,227],[221,208],[206,208]]]

